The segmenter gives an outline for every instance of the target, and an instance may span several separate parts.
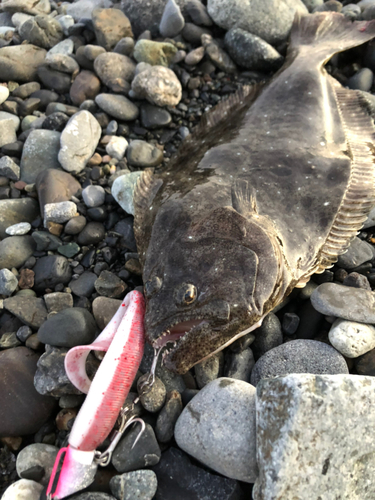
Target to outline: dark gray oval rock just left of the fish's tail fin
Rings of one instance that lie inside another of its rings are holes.
[[[239,66],[252,71],[273,71],[283,63],[283,57],[272,45],[241,28],[227,32],[225,47]]]

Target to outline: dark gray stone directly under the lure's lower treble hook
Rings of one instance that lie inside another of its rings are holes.
[[[117,472],[152,467],[159,462],[161,451],[151,425],[146,424],[145,430],[133,448],[139,430],[138,425],[133,426],[117,445],[112,455],[112,464]]]

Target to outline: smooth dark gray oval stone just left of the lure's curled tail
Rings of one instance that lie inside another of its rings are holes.
[[[47,319],[38,330],[38,339],[43,344],[75,347],[91,344],[96,330],[94,317],[87,309],[71,307]]]

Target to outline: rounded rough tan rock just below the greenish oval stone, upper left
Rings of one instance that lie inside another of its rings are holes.
[[[132,81],[132,90],[156,106],[176,106],[182,96],[179,79],[164,66],[152,66],[139,73]]]

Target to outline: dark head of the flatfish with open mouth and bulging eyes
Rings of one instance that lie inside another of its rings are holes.
[[[172,346],[163,356],[168,369],[185,373],[259,326],[275,305],[282,259],[263,226],[216,209],[145,267],[145,333],[155,348]]]

